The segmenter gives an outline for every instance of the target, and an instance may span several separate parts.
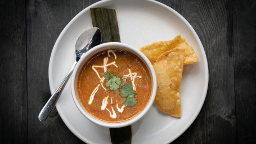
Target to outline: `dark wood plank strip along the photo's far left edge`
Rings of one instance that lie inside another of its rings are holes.
[[[26,9],[0,1],[0,143],[27,143]]]

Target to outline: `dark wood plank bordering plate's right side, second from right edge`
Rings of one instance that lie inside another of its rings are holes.
[[[208,93],[195,122],[174,143],[236,143],[232,1],[181,1],[181,15],[203,43]]]

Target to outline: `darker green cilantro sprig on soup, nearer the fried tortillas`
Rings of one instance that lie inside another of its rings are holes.
[[[124,106],[134,106],[137,103],[136,92],[132,89],[132,84],[125,83],[122,88],[120,88],[120,93],[122,97],[126,97]]]

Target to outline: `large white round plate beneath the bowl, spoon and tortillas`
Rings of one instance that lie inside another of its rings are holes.
[[[85,8],[61,32],[53,47],[49,64],[51,92],[59,86],[75,61],[75,42],[80,33],[92,28],[90,8],[116,10],[122,43],[140,49],[159,40],[181,34],[194,48],[199,60],[185,65],[181,82],[181,118],[177,119],[153,105],[140,121],[132,125],[132,143],[169,143],[194,122],[204,104],[208,88],[208,64],[204,48],[192,26],[172,8],[156,1],[100,1]],[[111,143],[109,128],[86,119],[74,104],[70,81],[56,104],[61,119],[82,141]]]

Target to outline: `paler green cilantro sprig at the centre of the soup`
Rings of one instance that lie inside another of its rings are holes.
[[[106,87],[110,87],[111,91],[116,91],[119,89],[119,85],[121,84],[122,78],[115,77],[113,72],[109,71],[104,75],[104,78],[108,81],[106,82]]]

